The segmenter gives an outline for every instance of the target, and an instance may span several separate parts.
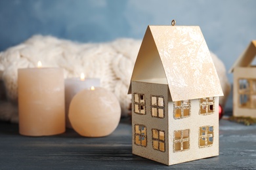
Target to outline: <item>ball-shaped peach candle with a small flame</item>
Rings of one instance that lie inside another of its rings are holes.
[[[104,137],[110,135],[119,124],[121,107],[114,93],[92,87],[73,97],[68,117],[79,135]]]

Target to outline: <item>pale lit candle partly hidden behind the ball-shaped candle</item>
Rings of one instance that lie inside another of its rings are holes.
[[[85,75],[81,73],[80,78],[66,78],[65,80],[65,106],[66,106],[66,127],[72,128],[70,119],[68,118],[68,110],[70,108],[70,102],[74,95],[81,90],[88,89],[91,86],[100,86],[99,78],[85,78]]]

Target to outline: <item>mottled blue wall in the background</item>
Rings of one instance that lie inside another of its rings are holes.
[[[35,34],[79,42],[142,39],[147,25],[200,25],[229,69],[256,39],[254,0],[0,0],[0,51]],[[232,82],[232,75],[228,75]]]

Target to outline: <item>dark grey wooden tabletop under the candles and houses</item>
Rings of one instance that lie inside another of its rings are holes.
[[[121,120],[108,137],[81,137],[72,129],[25,137],[18,125],[0,122],[0,169],[256,169],[256,126],[220,121],[220,155],[177,165],[131,153],[131,124]]]

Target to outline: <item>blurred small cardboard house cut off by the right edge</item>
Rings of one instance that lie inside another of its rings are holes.
[[[234,73],[234,116],[256,118],[256,67],[251,65],[255,55],[256,41],[251,41],[230,69],[230,72]]]

